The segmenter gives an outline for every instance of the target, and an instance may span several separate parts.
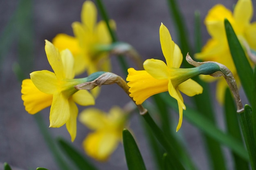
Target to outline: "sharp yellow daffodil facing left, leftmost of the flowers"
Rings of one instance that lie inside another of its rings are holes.
[[[86,78],[74,78],[74,57],[69,50],[61,52],[49,41],[45,40],[45,53],[54,71],[34,71],[31,79],[22,82],[22,100],[30,114],[51,106],[50,126],[58,128],[66,124],[71,140],[76,137],[77,104],[94,105],[94,98],[86,91],[78,91],[74,85],[86,82]]]

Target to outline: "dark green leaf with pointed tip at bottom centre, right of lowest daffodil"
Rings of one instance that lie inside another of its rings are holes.
[[[139,148],[129,130],[123,130],[124,152],[128,170],[146,170]]]

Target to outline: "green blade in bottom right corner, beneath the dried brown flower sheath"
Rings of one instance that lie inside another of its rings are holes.
[[[246,148],[249,152],[252,170],[256,170],[256,143],[252,124],[252,108],[246,104],[245,111],[238,114],[238,119],[245,139]]]

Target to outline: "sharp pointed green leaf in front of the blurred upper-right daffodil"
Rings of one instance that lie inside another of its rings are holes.
[[[229,43],[230,53],[232,55],[234,64],[236,66],[237,73],[239,75],[241,84],[245,91],[245,94],[251,104],[252,103],[252,85],[253,85],[253,70],[249,64],[243,47],[241,46],[236,33],[231,24],[225,19],[225,29],[227,34],[227,40]]]

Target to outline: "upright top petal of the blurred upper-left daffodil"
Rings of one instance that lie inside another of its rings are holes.
[[[90,31],[94,30],[94,26],[97,21],[97,9],[94,3],[90,0],[83,3],[81,21],[85,25],[86,29],[89,29]]]

